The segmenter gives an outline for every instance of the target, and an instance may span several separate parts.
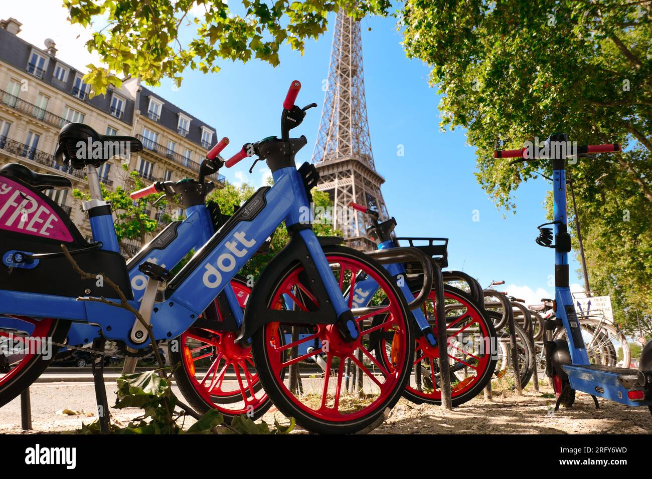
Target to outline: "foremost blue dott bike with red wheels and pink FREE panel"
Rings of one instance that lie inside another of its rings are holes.
[[[102,338],[119,341],[126,351],[138,352],[149,345],[147,329],[134,315],[96,300],[115,298],[116,294],[106,282],[80,279],[61,251],[60,245],[64,244],[81,269],[111,278],[119,286],[131,306],[152,325],[155,340],[183,334],[224,293],[233,315],[229,319],[237,326],[234,344],[245,350],[251,348],[265,392],[282,413],[293,416],[304,428],[321,433],[352,433],[381,422],[383,411],[398,401],[409,379],[413,361],[411,321],[404,298],[381,265],[350,248],[320,244],[311,225],[300,221],[301,215],[310,209],[307,177],[316,173],[309,165],[303,170],[295,167],[295,154],[306,145],[306,138],[289,138],[289,130],[301,124],[306,109],[316,106],[301,109],[294,105],[300,88],[300,83],[294,81],[284,101],[282,138],[268,137],[244,145],[226,162],[215,158],[216,154],[207,158],[201,164],[199,181],[156,182],[143,190],[143,195],[181,194],[188,216],[173,226],[167,236],[158,238],[164,250],[154,252],[156,244],[150,244],[154,247],[150,252],[134,259],[132,264],[140,262],[140,278],[129,276],[119,254],[110,205],[101,197],[96,167],[108,158],[85,159],[76,154],[78,143],[87,143],[89,139],[128,141],[131,151],[142,148],[140,141],[105,137],[78,123],[68,124],[59,134],[57,158],[67,166],[86,169],[92,199],[84,203],[84,208],[89,213],[92,242],[83,240],[67,215],[41,192],[70,187],[70,181],[58,175],[40,175],[20,165],[3,167],[0,234],[4,268],[0,276],[0,314],[10,316],[9,321],[14,324],[12,329],[4,323],[2,330],[23,332],[41,341],[52,337],[59,342],[65,339],[70,321],[92,323],[102,330]],[[267,160],[274,186],[260,188],[213,232],[210,212],[204,203],[209,190],[205,177],[253,153],[259,160]],[[291,237],[289,244],[261,274],[243,314],[230,282],[282,222]],[[198,238],[204,239],[206,231],[210,233],[203,246],[172,277],[165,265],[173,265],[174,259],[180,261],[192,249],[190,244],[202,244]],[[176,251],[177,258],[170,256],[170,263],[149,261],[162,258],[177,240],[188,242]],[[374,278],[380,286],[376,299],[386,302],[387,308],[381,313],[357,308],[351,297],[345,298],[348,285],[338,282],[333,265],[338,265],[340,277],[366,274]],[[156,291],[162,282],[166,287],[159,297]],[[315,306],[306,311],[278,307],[282,297],[291,295],[297,286],[306,289]],[[134,289],[143,290],[140,299],[135,299]],[[374,326],[370,325],[372,321],[376,321]],[[213,321],[213,329],[224,330],[220,323]],[[385,374],[375,375],[375,381],[365,383],[366,399],[355,405],[340,403],[339,384],[333,385],[329,378],[323,384],[312,385],[309,394],[297,396],[288,389],[285,379],[290,366],[303,357],[295,356],[291,343],[283,339],[284,330],[295,325],[328,342],[331,364],[344,364],[357,351],[366,351],[364,345],[372,332],[391,330],[398,339],[391,354],[383,359],[391,368]],[[33,360],[22,361],[18,370],[14,368],[5,374],[0,385],[1,403],[16,397],[36,379],[44,369],[43,361],[35,354]]]

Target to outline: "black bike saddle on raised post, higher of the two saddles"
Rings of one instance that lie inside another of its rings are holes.
[[[100,135],[87,124],[68,123],[59,132],[54,156],[65,166],[81,169],[87,165],[99,167],[113,156],[142,149],[140,140],[132,136]]]

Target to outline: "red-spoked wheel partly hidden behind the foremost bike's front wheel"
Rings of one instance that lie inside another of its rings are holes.
[[[231,287],[244,309],[251,292],[243,280],[231,280]],[[217,306],[217,305],[216,305]],[[216,308],[221,319],[221,312]],[[218,409],[225,420],[246,414],[262,416],[271,402],[256,371],[251,347],[235,342],[237,332],[191,327],[179,338],[179,348],[171,353],[175,380],[186,400],[198,411]]]

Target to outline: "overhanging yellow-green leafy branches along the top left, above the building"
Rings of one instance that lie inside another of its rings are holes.
[[[218,72],[220,60],[252,57],[278,65],[278,48],[286,43],[303,54],[305,40],[326,31],[329,12],[346,8],[355,18],[385,13],[389,0],[243,0],[244,15],[232,14],[221,0],[64,0],[68,21],[83,27],[102,25],[86,43],[108,66],[88,65],[84,81],[91,94],[119,86],[119,76],[140,76],[158,85],[172,78],[177,86],[186,68]],[[200,14],[193,14],[194,4]],[[194,27],[194,38],[182,43],[182,29]]]

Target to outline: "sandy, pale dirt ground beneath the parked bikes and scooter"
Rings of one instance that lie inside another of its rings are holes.
[[[531,386],[530,386],[531,387]],[[114,386],[108,385],[111,403]],[[175,388],[176,389],[176,388]],[[178,391],[175,390],[178,394]],[[600,400],[596,410],[591,396],[578,394],[572,408],[554,412],[552,389],[541,386],[541,392],[526,390],[524,396],[495,394],[492,401],[473,399],[453,411],[433,405],[415,405],[401,399],[389,413],[387,420],[372,434],[649,434],[652,433],[652,414],[647,407],[629,408]],[[33,431],[29,433],[57,433],[74,431],[82,421],[94,417],[93,386],[51,385],[32,386]],[[67,415],[63,409],[78,414]],[[140,410],[111,410],[114,421],[123,425],[140,414]],[[274,416],[285,418],[272,408],[265,416],[273,424]],[[192,424],[188,419],[186,426]],[[296,428],[294,433],[305,433]],[[0,433],[25,433],[20,428],[20,401],[0,409]]]

